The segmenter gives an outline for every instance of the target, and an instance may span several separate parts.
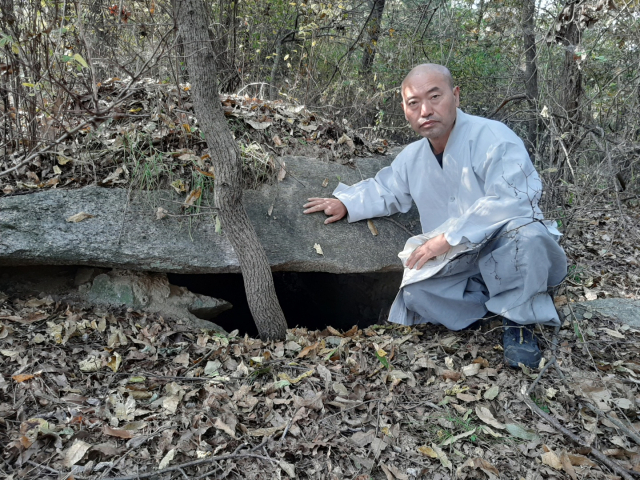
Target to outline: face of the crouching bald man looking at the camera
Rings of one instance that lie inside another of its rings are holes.
[[[446,145],[460,105],[460,89],[440,73],[409,77],[402,89],[402,109],[411,128],[434,144]]]

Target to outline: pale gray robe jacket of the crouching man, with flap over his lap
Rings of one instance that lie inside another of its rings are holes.
[[[522,140],[500,122],[467,115],[461,110],[457,111],[442,167],[428,140],[422,139],[408,145],[375,178],[350,187],[340,183],[333,192],[347,207],[349,222],[406,212],[415,201],[425,233],[409,239],[400,254],[403,261],[427,238],[444,233],[453,247],[451,252],[427,262],[420,270],[405,268],[402,288],[437,275],[464,251],[480,251],[510,221],[542,220],[538,207],[541,194],[542,183]],[[555,222],[545,224],[548,234],[557,239],[560,233]],[[535,263],[535,259],[530,261]],[[469,267],[469,276],[477,275],[477,269]],[[470,323],[469,319],[452,319],[447,312],[434,316],[438,319],[415,318],[404,305],[401,289],[389,321],[410,325],[435,320],[456,330]],[[556,316],[545,323],[557,321]]]

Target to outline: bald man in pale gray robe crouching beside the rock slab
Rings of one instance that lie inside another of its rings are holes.
[[[402,108],[423,138],[375,178],[339,184],[336,198],[310,198],[304,213],[326,224],[406,212],[415,202],[422,235],[400,253],[405,270],[389,321],[462,330],[503,317],[504,361],[537,367],[533,327],[559,325],[549,291],[566,275],[555,222],[544,221],[542,183],[522,140],[500,122],[458,109],[460,89],[442,65],[415,67]]]

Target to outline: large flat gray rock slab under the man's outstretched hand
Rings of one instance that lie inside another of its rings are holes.
[[[300,157],[285,157],[287,175],[275,185],[245,191],[244,205],[274,270],[360,273],[400,271],[397,253],[420,233],[417,211],[393,221],[346,220],[324,225],[324,214],[303,215],[312,196],[330,196],[342,181],[373,176],[392,156],[356,159],[356,168]],[[323,182],[326,180],[326,187]],[[183,196],[96,186],[49,190],[0,198],[0,265],[89,265],[173,273],[238,272],[229,241],[215,232],[213,218],[156,219],[163,207],[179,215]],[[66,221],[80,212],[93,217]],[[270,214],[269,214],[270,213]],[[202,218],[202,217],[198,217]],[[404,227],[404,228],[403,228]],[[320,245],[318,254],[314,245]]]

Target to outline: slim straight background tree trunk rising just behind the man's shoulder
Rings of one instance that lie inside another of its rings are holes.
[[[536,1],[522,0],[522,39],[525,56],[525,91],[532,114],[527,125],[527,148],[533,157],[538,135],[538,66],[536,64]],[[534,160],[532,158],[532,160]]]

